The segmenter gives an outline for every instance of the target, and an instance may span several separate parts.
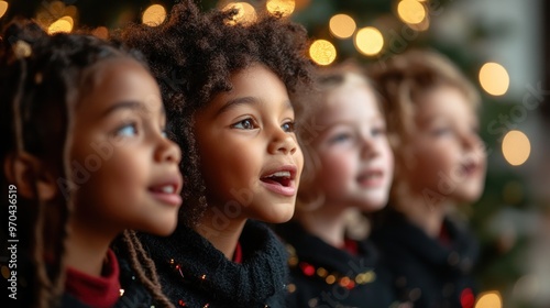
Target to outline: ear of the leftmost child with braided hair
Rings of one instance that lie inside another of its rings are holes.
[[[44,162],[29,153],[8,154],[3,169],[8,182],[26,199],[48,201],[57,195],[55,175]]]

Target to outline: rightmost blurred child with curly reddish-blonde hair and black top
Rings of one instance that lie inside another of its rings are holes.
[[[375,69],[396,155],[389,207],[373,238],[414,307],[473,307],[477,254],[449,211],[483,191],[485,155],[473,86],[443,56],[397,55]]]

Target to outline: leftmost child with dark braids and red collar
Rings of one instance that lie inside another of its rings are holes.
[[[2,184],[19,196],[10,304],[173,307],[129,231],[172,233],[182,204],[155,79],[138,54],[32,21],[10,23],[1,43]]]

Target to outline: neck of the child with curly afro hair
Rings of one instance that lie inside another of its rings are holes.
[[[219,213],[209,207],[200,218],[195,231],[221,251],[228,260],[233,260],[244,223],[246,223],[246,218],[220,218]]]

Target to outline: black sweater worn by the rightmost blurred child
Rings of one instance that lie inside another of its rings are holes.
[[[449,219],[443,228],[446,244],[389,211],[373,232],[372,239],[393,273],[396,293],[400,299],[413,301],[415,308],[473,307],[476,287],[471,271],[479,254],[477,243],[468,230]]]

